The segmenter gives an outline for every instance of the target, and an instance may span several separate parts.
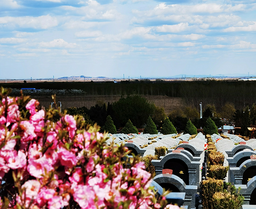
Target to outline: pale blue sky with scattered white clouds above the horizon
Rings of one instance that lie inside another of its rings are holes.
[[[0,0],[0,79],[256,74],[256,0]]]

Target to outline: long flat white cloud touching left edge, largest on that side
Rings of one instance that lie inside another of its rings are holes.
[[[39,17],[0,17],[2,26],[19,26],[21,28],[48,29],[58,25],[56,17],[43,15]]]

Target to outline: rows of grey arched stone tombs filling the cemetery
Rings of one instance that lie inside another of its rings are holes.
[[[231,183],[236,189],[240,188],[239,194],[244,198],[242,206],[244,209],[256,208],[256,140],[245,141],[239,136],[228,133],[223,135],[225,138],[219,134],[207,136],[215,144],[216,151],[224,156],[223,166],[228,168],[226,175],[220,180]],[[177,204],[182,202],[180,206],[184,208],[207,208],[202,206],[204,198],[200,197],[202,195],[200,186],[201,182],[209,178],[207,175],[210,176],[207,173],[207,152],[212,151],[205,149],[205,144],[209,140],[201,132],[192,139],[189,139],[191,135],[183,133],[180,135],[115,134],[109,137],[108,143],[112,139],[116,144],[125,143],[134,155],[140,157],[155,155],[156,147],[166,147],[163,156],[151,160],[154,166],[155,188],[160,192],[163,189],[172,191],[170,194],[173,193],[176,200],[169,201]],[[180,193],[179,198],[177,193]]]

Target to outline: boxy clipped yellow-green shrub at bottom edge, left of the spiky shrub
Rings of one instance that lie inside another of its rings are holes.
[[[215,192],[222,192],[223,181],[209,178],[201,181],[202,205],[204,209],[214,209],[213,195]]]

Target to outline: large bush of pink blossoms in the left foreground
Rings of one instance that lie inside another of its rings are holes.
[[[106,135],[98,132],[99,127],[86,126],[81,117],[61,114],[55,109],[46,112],[34,99],[4,95],[1,101],[0,206],[14,209],[166,206],[164,198],[154,197],[151,175],[144,164],[137,158],[125,162],[128,150],[114,144],[107,146]]]

